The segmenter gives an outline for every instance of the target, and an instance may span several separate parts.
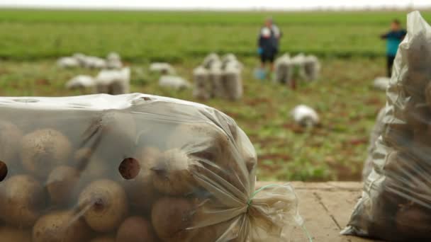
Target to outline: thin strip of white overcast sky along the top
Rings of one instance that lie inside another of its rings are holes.
[[[431,0],[0,0],[0,6],[54,8],[303,9],[320,7],[431,7]]]

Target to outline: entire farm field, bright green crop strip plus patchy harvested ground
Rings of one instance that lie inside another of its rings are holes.
[[[296,91],[252,78],[257,32],[272,16],[284,32],[283,52],[318,54],[322,74]],[[431,19],[431,13],[424,13]],[[133,92],[194,100],[157,86],[148,63],[191,70],[208,52],[233,52],[245,63],[245,97],[204,102],[235,118],[259,155],[260,180],[359,180],[369,132],[385,96],[371,88],[382,76],[384,42],[379,34],[405,12],[220,13],[0,11],[0,96],[68,96],[64,83],[86,69],[65,70],[55,59],[74,52],[119,52],[133,69]],[[198,100],[194,100],[198,101]],[[304,130],[289,111],[304,103],[323,126]]]

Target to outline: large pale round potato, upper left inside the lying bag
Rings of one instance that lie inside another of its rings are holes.
[[[23,137],[21,161],[30,173],[45,178],[55,166],[67,163],[72,145],[55,129],[38,129]]]

